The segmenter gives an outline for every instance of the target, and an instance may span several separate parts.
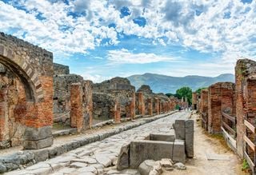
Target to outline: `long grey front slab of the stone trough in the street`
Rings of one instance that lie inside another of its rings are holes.
[[[172,158],[173,142],[168,141],[131,141],[130,168],[136,169],[146,160],[159,161],[162,158]]]

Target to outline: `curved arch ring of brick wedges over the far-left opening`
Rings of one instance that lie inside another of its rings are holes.
[[[27,101],[42,101],[42,83],[37,71],[28,62],[13,50],[0,46],[0,63],[20,79],[26,90]]]

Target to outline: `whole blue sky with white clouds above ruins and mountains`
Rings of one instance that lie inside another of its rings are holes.
[[[252,0],[0,0],[0,31],[94,82],[132,74],[234,74],[255,58]]]

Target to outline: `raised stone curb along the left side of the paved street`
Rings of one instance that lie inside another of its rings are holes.
[[[0,173],[5,173],[14,169],[24,169],[27,166],[34,165],[40,161],[46,161],[47,159],[59,156],[62,153],[69,152],[70,150],[77,149],[83,145],[87,145],[95,141],[102,141],[106,137],[113,136],[128,129],[133,129],[151,121],[158,120],[162,117],[167,117],[176,112],[177,111],[162,113],[153,117],[142,117],[141,120],[134,121],[133,123],[122,125],[114,129],[109,129],[107,131],[102,131],[101,133],[74,138],[74,140],[66,141],[61,145],[52,145],[51,147],[38,150],[23,150],[10,155],[2,157],[0,156]]]

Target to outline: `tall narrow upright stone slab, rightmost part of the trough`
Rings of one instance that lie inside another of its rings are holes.
[[[185,150],[186,157],[194,157],[194,121],[186,120],[185,121]]]

